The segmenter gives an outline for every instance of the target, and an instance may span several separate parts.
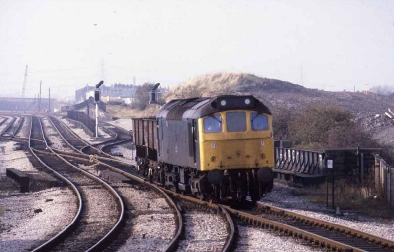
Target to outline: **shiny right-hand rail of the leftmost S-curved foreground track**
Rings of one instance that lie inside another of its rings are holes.
[[[107,190],[108,190],[112,195],[114,195],[114,196],[118,199],[118,200],[117,200],[117,203],[118,203],[118,207],[120,208],[120,215],[119,215],[119,218],[118,218],[116,224],[111,228],[111,230],[110,230],[105,236],[103,236],[97,243],[95,243],[92,247],[90,247],[90,248],[89,248],[88,250],[86,250],[85,252],[93,252],[93,251],[96,251],[96,250],[99,249],[100,247],[104,246],[104,243],[108,241],[108,239],[111,237],[111,235],[113,235],[113,234],[114,234],[116,231],[118,231],[118,229],[120,228],[120,226],[121,226],[120,224],[121,224],[121,222],[122,222],[123,219],[124,219],[124,213],[125,213],[125,207],[124,207],[123,200],[122,200],[121,196],[119,196],[119,194],[116,192],[116,190],[113,189],[108,183],[106,183],[106,182],[103,181],[102,179],[100,179],[100,178],[98,178],[98,177],[96,177],[96,176],[90,174],[89,172],[87,172],[87,171],[85,171],[85,170],[83,170],[83,169],[81,169],[81,168],[78,168],[78,167],[74,166],[73,164],[71,164],[70,162],[68,162],[66,159],[64,159],[63,157],[61,157],[59,154],[57,154],[56,152],[54,152],[54,151],[50,148],[50,146],[48,145],[48,143],[47,143],[47,141],[46,141],[45,132],[44,132],[44,130],[43,130],[43,126],[42,126],[42,123],[41,123],[41,120],[40,120],[40,119],[39,119],[39,122],[40,122],[40,126],[41,126],[41,133],[42,133],[42,136],[44,137],[45,145],[46,145],[47,148],[52,152],[52,153],[50,153],[49,155],[53,155],[53,156],[58,157],[58,158],[61,159],[63,162],[65,162],[69,167],[72,167],[72,168],[76,169],[77,171],[81,172],[81,173],[84,174],[85,176],[87,176],[87,177],[89,177],[89,178],[95,180],[95,181],[98,182],[99,184],[103,185],[105,188],[107,188]],[[32,119],[32,124],[33,124],[33,119]],[[41,154],[45,154],[45,153],[46,153],[46,152],[40,151],[40,150],[35,150],[35,151],[37,151],[38,153],[41,153]],[[60,175],[60,174],[59,174],[59,175]],[[81,198],[81,200],[82,200],[82,198]],[[81,201],[81,204],[82,204],[82,201]],[[82,206],[82,205],[81,205],[81,206]],[[53,240],[53,238],[52,238],[51,240]]]

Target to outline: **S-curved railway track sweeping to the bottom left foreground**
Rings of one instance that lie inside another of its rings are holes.
[[[73,189],[78,198],[74,220],[38,251],[96,251],[107,246],[123,220],[124,205],[116,191],[101,179],[79,169],[50,150],[41,121],[32,117],[29,148],[36,166],[47,169]]]

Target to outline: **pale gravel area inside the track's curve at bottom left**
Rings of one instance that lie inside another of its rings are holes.
[[[30,251],[38,247],[69,224],[76,211],[76,198],[66,188],[25,194],[1,192],[0,251]]]

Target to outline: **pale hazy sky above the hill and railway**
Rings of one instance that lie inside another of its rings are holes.
[[[25,65],[27,97],[219,71],[366,90],[394,85],[394,1],[0,0],[0,96]]]

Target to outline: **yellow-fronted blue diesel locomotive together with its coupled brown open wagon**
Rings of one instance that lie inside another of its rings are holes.
[[[253,96],[172,100],[133,119],[138,172],[210,201],[258,201],[272,189],[272,115]]]

